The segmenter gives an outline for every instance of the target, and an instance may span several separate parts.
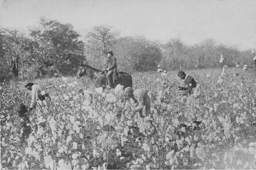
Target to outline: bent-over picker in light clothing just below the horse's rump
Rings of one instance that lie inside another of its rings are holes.
[[[125,88],[124,95],[126,99],[130,99],[132,111],[134,113],[139,112],[141,118],[145,117],[143,116],[144,105],[146,107],[146,111],[145,111],[146,116],[148,116],[151,113],[150,98],[148,96],[148,91],[141,90],[141,89],[136,89],[133,91],[131,87],[128,87],[128,88]]]

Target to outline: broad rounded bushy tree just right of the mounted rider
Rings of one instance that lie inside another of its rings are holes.
[[[145,37],[120,38],[113,49],[116,51],[118,69],[122,71],[156,70],[162,59],[160,45]]]

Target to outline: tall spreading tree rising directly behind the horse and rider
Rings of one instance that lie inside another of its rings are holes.
[[[118,31],[112,31],[110,26],[96,26],[86,35],[84,53],[90,65],[103,68],[105,54],[113,48],[118,40]],[[115,53],[115,51],[113,51]]]

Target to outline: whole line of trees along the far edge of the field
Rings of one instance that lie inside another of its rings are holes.
[[[118,70],[126,72],[152,71],[159,64],[166,70],[235,66],[236,62],[252,67],[254,55],[212,39],[189,46],[179,37],[167,43],[120,37],[111,26],[93,27],[82,39],[71,24],[41,18],[38,27],[29,29],[28,36],[0,29],[0,75],[20,79],[73,75],[81,62],[102,69],[109,50],[117,58]],[[218,62],[221,54],[222,64]]]

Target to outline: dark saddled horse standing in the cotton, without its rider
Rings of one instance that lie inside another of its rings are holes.
[[[98,70],[96,68],[91,67],[90,65],[86,65],[81,63],[79,70],[76,74],[76,77],[80,79],[84,74],[86,74],[95,84],[96,88],[103,87],[105,89],[106,87],[106,73],[105,71]],[[113,85],[113,88],[116,87],[116,85],[123,85],[123,89],[127,87],[132,88],[132,79],[131,75],[125,73],[125,72],[117,72],[116,73],[116,82]]]

